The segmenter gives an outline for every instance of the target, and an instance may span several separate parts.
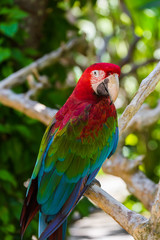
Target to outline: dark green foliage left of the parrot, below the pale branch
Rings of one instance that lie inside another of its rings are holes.
[[[0,108],[0,237],[19,239],[19,217],[25,195],[23,183],[34,167],[45,127],[11,109]],[[31,227],[37,231],[35,224]]]

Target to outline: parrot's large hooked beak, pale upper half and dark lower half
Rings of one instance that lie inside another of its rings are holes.
[[[110,97],[111,102],[115,102],[118,97],[119,91],[119,78],[118,74],[114,73],[107,78],[105,78],[96,89],[99,96]]]

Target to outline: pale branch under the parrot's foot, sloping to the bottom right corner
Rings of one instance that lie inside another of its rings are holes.
[[[129,210],[96,184],[90,185],[84,195],[114,218],[135,240],[160,239],[160,183],[150,219]]]

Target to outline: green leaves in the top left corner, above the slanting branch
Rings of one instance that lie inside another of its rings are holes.
[[[20,24],[27,16],[13,1],[0,2],[0,79],[32,61],[26,50],[20,50],[26,37]]]

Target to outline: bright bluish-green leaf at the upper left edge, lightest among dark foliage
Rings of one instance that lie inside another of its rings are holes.
[[[8,37],[13,37],[18,31],[18,23],[17,22],[1,23],[0,31]]]

